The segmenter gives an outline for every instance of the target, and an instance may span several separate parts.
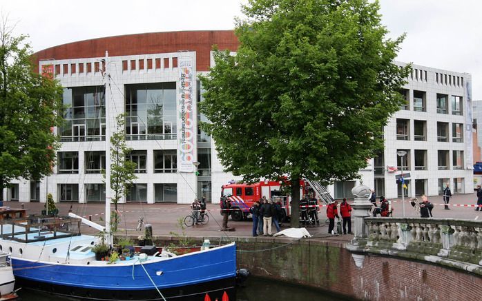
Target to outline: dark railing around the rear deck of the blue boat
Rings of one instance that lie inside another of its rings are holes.
[[[31,216],[0,221],[0,236],[4,240],[37,242],[79,236],[79,218]]]

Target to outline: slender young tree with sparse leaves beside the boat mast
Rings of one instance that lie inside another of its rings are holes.
[[[111,231],[117,231],[119,225],[119,215],[117,214],[117,203],[119,203],[122,196],[129,194],[130,188],[133,185],[135,176],[135,167],[137,165],[131,160],[127,160],[128,155],[132,149],[126,144],[126,127],[124,114],[119,114],[115,118],[115,132],[110,136],[110,189],[113,191],[113,196],[110,200],[115,205],[115,211],[111,214]],[[102,170],[102,176],[106,178],[105,169]]]

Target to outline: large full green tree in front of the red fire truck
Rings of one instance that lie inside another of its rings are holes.
[[[401,105],[407,68],[393,63],[403,37],[387,39],[378,2],[250,0],[235,55],[215,52],[201,81],[202,128],[226,171],[244,180],[291,182],[292,227],[299,183],[358,178],[383,125]]]

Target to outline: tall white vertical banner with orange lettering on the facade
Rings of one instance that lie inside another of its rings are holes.
[[[179,89],[177,90],[177,169],[179,172],[194,172],[194,139],[197,129],[193,129],[193,60],[191,56],[177,59]]]

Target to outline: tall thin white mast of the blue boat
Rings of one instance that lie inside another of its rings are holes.
[[[106,50],[105,59],[105,75],[106,76],[106,90],[104,92],[104,103],[106,110],[106,240],[108,245],[113,244],[112,236],[110,235],[110,74],[108,64],[108,52]]]

